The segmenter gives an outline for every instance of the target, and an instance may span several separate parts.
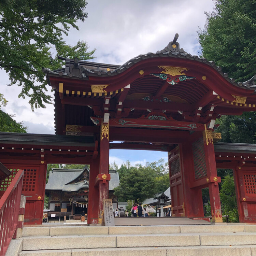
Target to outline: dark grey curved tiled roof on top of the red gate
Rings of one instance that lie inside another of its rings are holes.
[[[49,69],[43,68],[43,72],[46,74],[58,74],[60,76],[65,75],[69,77],[76,77],[78,79],[87,80],[87,76],[98,76],[98,77],[108,77],[118,75],[125,70],[131,68],[135,63],[143,61],[145,59],[157,58],[157,57],[166,57],[166,58],[181,58],[189,59],[198,62],[205,63],[205,65],[211,66],[215,69],[220,75],[222,75],[228,82],[237,87],[242,87],[245,89],[255,90],[255,80],[256,75],[254,75],[250,80],[245,82],[236,83],[233,78],[229,78],[227,73],[222,72],[221,67],[217,67],[213,61],[208,61],[206,58],[200,58],[197,55],[191,55],[184,52],[184,50],[179,46],[179,43],[176,42],[178,34],[175,34],[174,40],[171,41],[164,49],[157,51],[156,53],[149,52],[147,54],[140,54],[134,58],[131,58],[125,62],[122,66],[110,65],[104,63],[96,63],[90,61],[83,61],[69,58],[63,58],[58,56],[58,58],[66,61],[66,67],[63,69],[58,69],[51,71]],[[75,72],[72,72],[71,68],[75,67]],[[256,90],[255,90],[256,92]]]

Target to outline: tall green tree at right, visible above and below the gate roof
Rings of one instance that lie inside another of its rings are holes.
[[[237,82],[256,70],[256,1],[216,0],[207,22],[198,31],[201,55],[222,67]],[[256,143],[256,112],[222,116],[217,120],[222,142]]]

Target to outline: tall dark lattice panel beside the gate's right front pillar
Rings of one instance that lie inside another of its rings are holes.
[[[207,176],[203,138],[192,143],[196,180]]]

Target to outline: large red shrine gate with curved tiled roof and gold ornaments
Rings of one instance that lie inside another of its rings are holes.
[[[47,143],[35,142],[37,146],[29,142],[30,134],[23,135],[28,136],[23,144],[12,138],[4,141],[6,134],[1,141],[0,161],[9,168],[18,168],[23,161],[29,170],[43,165],[38,180],[32,172],[34,195],[24,191],[31,196],[26,205],[28,223],[33,219],[40,222],[35,212],[40,206],[35,205],[43,200],[40,182],[44,184],[46,163],[82,162],[90,165],[88,223],[102,224],[110,148],[168,152],[173,216],[203,217],[201,189],[209,187],[213,222],[222,222],[216,162],[224,168],[232,163],[237,170],[240,220],[256,221],[255,160],[250,162],[250,172],[248,168],[243,172],[241,161],[219,160],[214,150],[217,144],[213,144],[221,138],[214,132],[216,118],[256,111],[256,77],[235,83],[214,62],[184,52],[176,40],[177,34],[163,50],[139,55],[122,66],[60,57],[65,68],[43,69],[55,91],[57,135],[47,138]],[[110,143],[113,141],[124,143]]]

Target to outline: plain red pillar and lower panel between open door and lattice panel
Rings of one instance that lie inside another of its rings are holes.
[[[184,216],[202,218],[204,217],[202,190],[199,187],[191,188],[191,183],[195,180],[191,142],[182,143],[180,145],[180,156],[184,191]]]

